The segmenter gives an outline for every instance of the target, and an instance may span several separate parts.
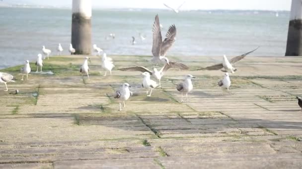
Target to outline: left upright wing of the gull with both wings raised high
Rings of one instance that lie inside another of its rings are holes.
[[[155,16],[152,32],[153,32],[152,54],[155,57],[159,57],[162,39],[161,39],[158,15]]]

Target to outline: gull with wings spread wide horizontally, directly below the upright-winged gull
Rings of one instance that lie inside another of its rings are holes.
[[[136,66],[136,67],[129,67],[129,68],[120,68],[120,71],[140,71],[140,72],[148,72],[150,75],[154,76],[158,82],[159,87],[161,88],[160,80],[163,77],[164,73],[170,68],[177,68],[181,70],[188,70],[189,67],[178,62],[170,62],[169,64],[165,64],[159,71],[155,67],[153,67],[153,71],[145,68],[144,66]]]

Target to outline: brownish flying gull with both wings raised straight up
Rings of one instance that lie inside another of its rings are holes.
[[[158,15],[156,15],[152,32],[153,32],[153,42],[152,42],[153,58],[151,59],[151,61],[154,63],[158,63],[159,61],[164,61],[164,59],[166,58],[165,55],[167,50],[175,42],[176,27],[175,25],[171,25],[166,34],[166,38],[162,41],[160,26],[159,26],[159,18]]]

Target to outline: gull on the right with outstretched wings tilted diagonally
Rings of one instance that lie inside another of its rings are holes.
[[[237,69],[234,68],[232,65],[234,65],[235,63],[239,62],[241,59],[243,59],[246,55],[252,53],[253,51],[257,50],[259,47],[257,47],[256,49],[249,51],[247,53],[244,53],[240,56],[236,56],[233,57],[230,61],[227,60],[226,55],[224,55],[224,59],[223,59],[223,63],[220,64],[216,64],[213,66],[208,66],[206,68],[200,68],[197,70],[220,70],[222,68],[225,68],[225,70],[222,70],[223,72],[231,72],[234,73]]]

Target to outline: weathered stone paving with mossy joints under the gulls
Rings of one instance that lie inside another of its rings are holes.
[[[147,56],[110,57],[116,68],[151,67]],[[246,57],[221,95],[223,72],[195,70],[222,57],[173,56],[192,70],[169,70],[151,98],[140,72],[103,77],[91,58],[90,81],[78,72],[83,56],[58,56],[43,67],[55,75],[8,84],[17,95],[0,90],[0,168],[302,168],[302,57]],[[18,70],[1,71],[20,79]],[[186,74],[198,79],[181,103],[175,84]],[[134,96],[119,112],[112,94],[125,82]]]

